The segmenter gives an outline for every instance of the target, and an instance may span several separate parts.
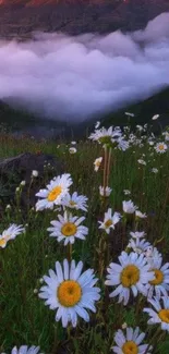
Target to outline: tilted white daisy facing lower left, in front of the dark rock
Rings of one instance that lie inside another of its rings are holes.
[[[45,190],[36,193],[36,196],[41,198],[36,203],[36,210],[52,209],[55,205],[60,205],[72,183],[69,173],[58,175],[51,180]]]

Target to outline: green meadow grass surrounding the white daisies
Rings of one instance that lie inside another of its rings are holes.
[[[87,142],[79,142],[77,152],[70,155],[70,145],[57,142],[35,141],[22,137],[16,139],[11,135],[0,136],[0,158],[11,157],[26,151],[52,154],[65,163],[65,172],[73,179],[72,192],[77,191],[88,197],[88,212],[85,225],[89,233],[86,241],[75,241],[73,258],[83,260],[85,268],[94,268],[99,278],[101,300],[97,303],[97,313],[90,314],[90,322],[79,321],[76,329],[63,329],[55,321],[55,312],[44,305],[37,291],[41,286],[40,278],[55,268],[56,260],[62,261],[68,256],[67,248],[49,237],[47,228],[50,220],[57,218],[55,211],[25,211],[12,204],[11,210],[2,205],[1,232],[9,223],[27,223],[26,233],[19,235],[0,249],[0,352],[11,353],[14,345],[39,345],[41,352],[49,354],[108,354],[113,344],[114,331],[123,322],[128,326],[140,326],[147,332],[148,339],[156,331],[156,326],[149,330],[147,315],[143,313],[146,301],[130,302],[123,307],[117,298],[108,297],[110,288],[105,288],[106,267],[110,261],[118,261],[118,256],[129,242],[129,232],[135,227],[134,221],[119,223],[116,231],[104,240],[108,256],[100,277],[99,259],[102,257],[99,241],[102,233],[98,230],[98,220],[102,220],[108,207],[122,212],[122,200],[132,198],[140,210],[147,213],[147,219],[141,222],[140,230],[145,230],[147,239],[156,244],[162,253],[164,261],[169,259],[169,154],[158,155],[153,147],[133,146],[126,151],[113,150],[110,173],[112,194],[104,207],[98,194],[102,184],[102,169],[94,171],[95,158],[102,156],[101,147]],[[138,164],[137,159],[145,154],[146,166]],[[153,154],[153,155],[152,155]],[[152,172],[157,168],[158,173]],[[55,176],[55,171],[53,175]],[[51,176],[50,176],[51,178]],[[34,182],[38,183],[38,182]],[[41,181],[40,181],[41,184]],[[41,185],[39,185],[40,187]],[[123,190],[130,190],[131,196],[124,196]],[[111,288],[112,289],[112,288]],[[150,332],[149,332],[150,331]],[[157,342],[156,342],[157,344]],[[169,353],[169,335],[155,346],[154,354]]]

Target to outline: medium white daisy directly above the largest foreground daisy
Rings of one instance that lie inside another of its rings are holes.
[[[64,246],[70,242],[73,244],[75,239],[85,240],[85,236],[88,234],[88,228],[80,225],[81,222],[85,220],[84,217],[72,217],[72,215],[64,211],[64,216],[58,215],[59,221],[51,221],[51,228],[47,230],[50,233],[50,236],[57,237],[58,242],[64,240]]]

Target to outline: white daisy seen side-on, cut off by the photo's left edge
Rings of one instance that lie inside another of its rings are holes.
[[[12,223],[0,235],[0,247],[4,248],[8,241],[14,240],[17,235],[20,235],[23,232],[25,232],[25,228],[23,228],[23,225],[16,225],[15,223]]]

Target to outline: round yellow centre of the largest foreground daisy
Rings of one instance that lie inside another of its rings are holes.
[[[59,303],[64,307],[76,305],[82,297],[81,285],[74,280],[65,280],[58,288]]]

